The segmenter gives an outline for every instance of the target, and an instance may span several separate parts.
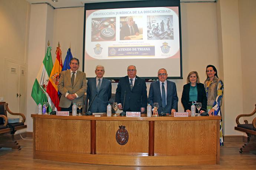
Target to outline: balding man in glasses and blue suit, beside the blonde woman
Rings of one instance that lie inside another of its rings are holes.
[[[158,81],[150,84],[148,94],[148,103],[154,107],[154,103],[158,103],[158,113],[171,113],[178,111],[178,96],[176,85],[172,81],[167,80],[167,71],[164,68],[158,70]],[[163,109],[162,109],[163,105]]]

